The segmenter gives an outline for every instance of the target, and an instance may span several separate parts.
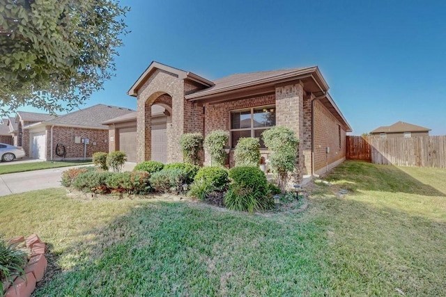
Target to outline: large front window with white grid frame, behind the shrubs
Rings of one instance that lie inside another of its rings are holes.
[[[236,147],[242,137],[260,138],[260,147],[265,148],[261,134],[276,125],[275,106],[254,107],[231,111],[231,147]]]

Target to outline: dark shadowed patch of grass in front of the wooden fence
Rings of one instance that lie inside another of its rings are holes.
[[[383,191],[446,197],[443,191],[420,182],[395,166],[376,165],[364,161],[345,161],[334,168],[327,179],[353,192]]]

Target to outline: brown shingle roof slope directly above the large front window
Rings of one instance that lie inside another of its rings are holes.
[[[213,81],[213,83],[215,83],[214,86],[194,92],[191,96],[204,95],[206,93],[217,93],[220,90],[225,90],[226,88],[237,88],[238,86],[243,86],[249,83],[261,83],[261,81],[267,79],[279,79],[281,76],[286,74],[300,72],[302,70],[311,70],[312,68],[316,69],[316,66],[232,74],[229,75],[229,77],[215,79],[215,81]]]

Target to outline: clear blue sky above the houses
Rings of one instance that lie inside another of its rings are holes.
[[[151,61],[206,79],[318,65],[360,135],[402,120],[446,135],[446,1],[121,1],[117,72],[98,103],[136,109],[127,90]],[[35,109],[21,109],[36,111]]]

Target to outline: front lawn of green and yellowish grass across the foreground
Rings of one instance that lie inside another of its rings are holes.
[[[268,216],[10,195],[0,233],[36,232],[57,255],[63,272],[36,296],[446,295],[446,170],[348,161],[327,179],[307,211]]]

